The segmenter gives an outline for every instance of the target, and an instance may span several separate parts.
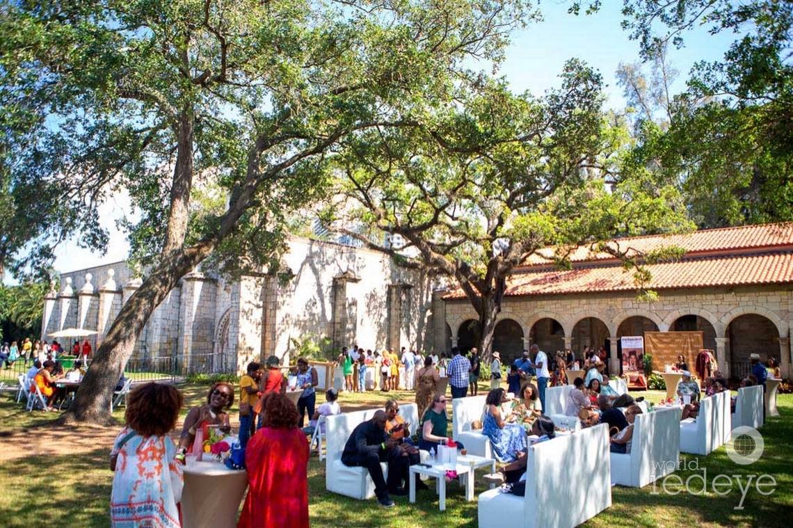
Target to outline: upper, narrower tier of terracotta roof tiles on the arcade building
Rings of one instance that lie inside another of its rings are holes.
[[[773,248],[793,246],[793,222],[781,224],[747,225],[736,228],[704,229],[686,235],[649,235],[616,239],[612,244],[619,244],[621,250],[632,248],[642,253],[659,247],[675,245],[684,247],[687,254],[746,251],[755,248]],[[540,250],[548,258],[534,254],[527,262],[528,266],[550,264],[549,258],[554,248]],[[594,253],[590,247],[578,247],[570,255],[571,262],[611,260],[610,254]]]

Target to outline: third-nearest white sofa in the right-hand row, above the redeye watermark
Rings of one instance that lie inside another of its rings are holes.
[[[719,392],[699,402],[694,422],[680,422],[680,451],[707,455],[730,440],[730,393]]]

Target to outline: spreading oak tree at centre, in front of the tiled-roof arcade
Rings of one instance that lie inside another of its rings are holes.
[[[640,265],[642,290],[642,262],[675,256],[674,248],[638,255],[605,242],[690,226],[672,186],[623,170],[626,128],[602,103],[600,75],[576,60],[542,98],[483,82],[422,127],[343,142],[328,164],[343,200],[331,202],[325,220],[404,265],[449,277],[477,312],[486,353],[508,277],[543,247],[556,247],[560,264],[582,244],[610,251]],[[404,246],[382,243],[383,233]]]

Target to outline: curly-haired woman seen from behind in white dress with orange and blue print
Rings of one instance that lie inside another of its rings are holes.
[[[127,424],[110,451],[111,526],[182,526],[182,465],[168,435],[181,408],[182,393],[171,385],[147,383],[129,393]]]

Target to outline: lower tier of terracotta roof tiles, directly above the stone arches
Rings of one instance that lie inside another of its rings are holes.
[[[789,224],[793,228],[793,224]],[[793,232],[793,231],[789,231]],[[793,251],[684,259],[647,266],[650,289],[704,288],[793,283]],[[507,281],[507,296],[635,290],[633,273],[622,266],[597,266],[574,270],[526,271]],[[465,297],[462,290],[445,296]]]

